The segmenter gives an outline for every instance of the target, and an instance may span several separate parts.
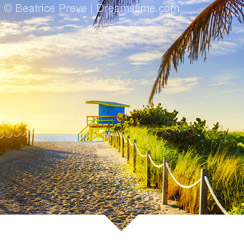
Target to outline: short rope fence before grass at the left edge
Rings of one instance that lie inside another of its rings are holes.
[[[3,133],[0,136],[0,153],[7,152],[13,149],[20,149],[21,146],[30,146],[34,144],[34,129],[32,130],[32,141],[31,141],[31,131],[25,131],[23,134],[19,133],[15,135],[7,135]]]

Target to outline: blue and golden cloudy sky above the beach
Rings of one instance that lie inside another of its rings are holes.
[[[161,56],[211,2],[142,0],[97,31],[95,0],[2,0],[0,122],[76,134],[85,116],[98,114],[87,100],[129,104],[127,113],[142,108]],[[243,131],[244,25],[234,19],[232,27],[205,62],[190,64],[186,55],[154,103],[178,110],[179,119]]]

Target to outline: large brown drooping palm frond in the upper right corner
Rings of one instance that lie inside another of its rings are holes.
[[[244,0],[216,0],[203,10],[173,45],[164,53],[158,71],[158,77],[153,85],[149,103],[152,103],[156,93],[160,93],[167,85],[171,62],[177,71],[179,64],[184,63],[187,51],[192,63],[198,59],[199,52],[204,61],[210,48],[210,42],[223,39],[231,31],[233,16],[240,23],[244,21]]]

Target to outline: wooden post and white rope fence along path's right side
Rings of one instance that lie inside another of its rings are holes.
[[[122,134],[120,132],[110,132],[108,134],[108,141],[110,145],[114,148],[118,149],[118,152],[122,152],[122,157],[125,157],[126,154],[126,160],[129,164],[130,158],[133,159],[133,172],[135,173],[137,171],[136,165],[137,165],[137,156],[140,156],[142,158],[146,158],[146,182],[147,187],[151,187],[151,166],[155,168],[163,168],[162,173],[162,201],[163,205],[167,205],[168,203],[168,173],[174,180],[174,182],[180,186],[181,188],[190,189],[194,186],[200,185],[200,206],[199,206],[199,214],[207,214],[207,197],[208,197],[208,190],[211,193],[213,199],[215,200],[217,206],[220,208],[220,210],[225,215],[229,215],[229,213],[223,208],[223,206],[220,204],[219,200],[217,199],[216,195],[214,194],[214,191],[209,183],[208,180],[208,170],[202,169],[201,170],[201,177],[192,185],[186,186],[182,185],[173,175],[170,167],[169,167],[169,160],[168,158],[164,157],[164,162],[160,165],[155,164],[151,157],[151,151],[148,150],[147,154],[144,155],[140,152],[136,140],[133,140],[133,143],[130,141],[130,136],[127,135],[127,138],[125,137],[124,132]]]

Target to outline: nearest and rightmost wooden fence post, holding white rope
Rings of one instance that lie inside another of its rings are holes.
[[[208,186],[204,180],[204,176],[208,177],[208,170],[207,169],[201,170],[199,214],[207,214],[208,213],[208,208],[207,208]]]

